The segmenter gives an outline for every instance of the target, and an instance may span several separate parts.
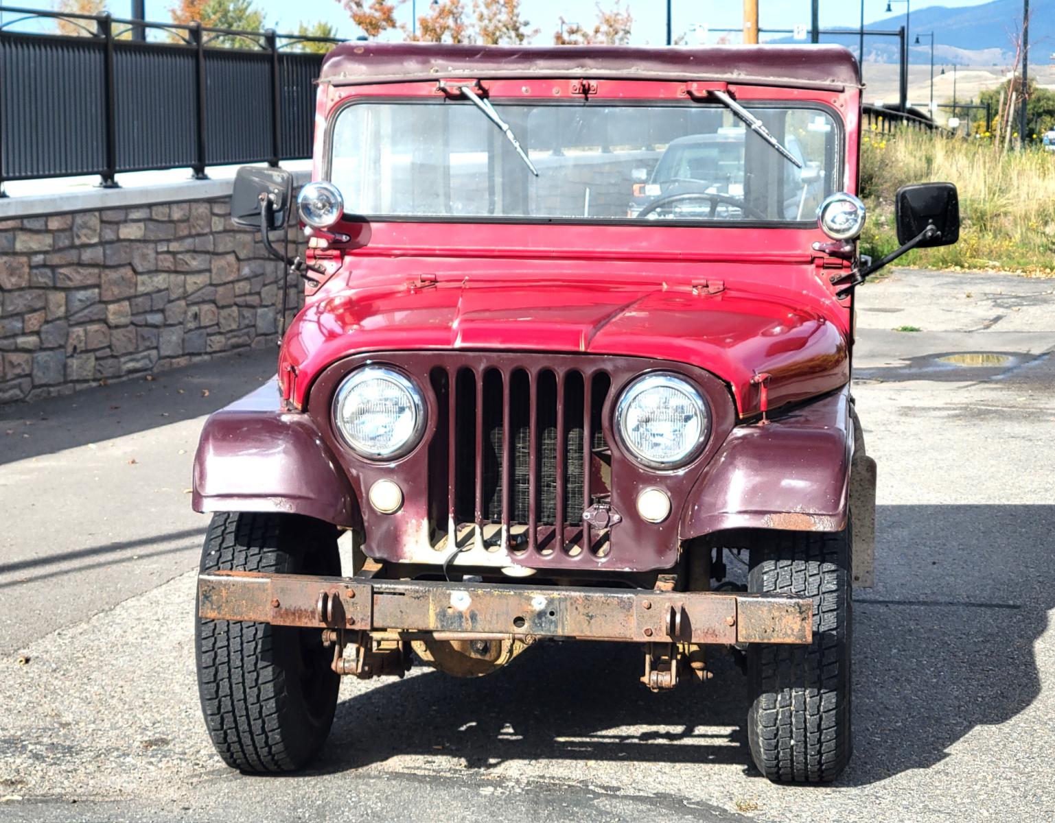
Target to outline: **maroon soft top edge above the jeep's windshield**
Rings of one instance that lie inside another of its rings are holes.
[[[320,82],[335,85],[442,77],[597,77],[711,80],[742,85],[839,90],[860,86],[853,55],[841,45],[447,45],[342,43],[323,61]]]

